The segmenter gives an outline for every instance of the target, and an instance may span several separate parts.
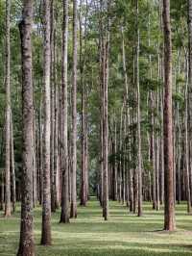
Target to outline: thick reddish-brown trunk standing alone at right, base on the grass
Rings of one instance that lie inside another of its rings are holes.
[[[164,229],[173,231],[175,225],[174,170],[173,170],[173,122],[172,122],[172,41],[170,1],[163,0],[164,25],[164,176],[165,207]]]

